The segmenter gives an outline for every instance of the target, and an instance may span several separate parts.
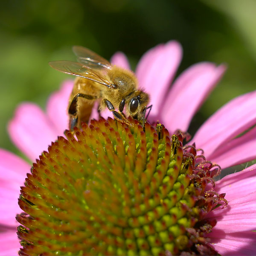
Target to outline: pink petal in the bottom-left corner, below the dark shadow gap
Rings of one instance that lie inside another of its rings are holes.
[[[0,256],[18,255],[21,246],[16,233],[16,228],[3,231],[0,227]]]

